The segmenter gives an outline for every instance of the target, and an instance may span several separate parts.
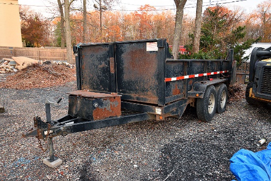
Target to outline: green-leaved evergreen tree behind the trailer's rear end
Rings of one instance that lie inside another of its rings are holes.
[[[234,49],[234,59],[237,65],[248,57],[243,57],[245,50],[250,48],[258,39],[247,39],[245,26],[240,26],[241,16],[226,7],[208,7],[203,13],[203,24],[200,39],[200,51],[190,55],[195,59],[223,59],[229,48]],[[188,49],[191,49],[191,46]]]

